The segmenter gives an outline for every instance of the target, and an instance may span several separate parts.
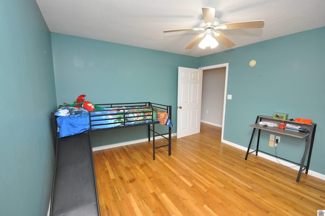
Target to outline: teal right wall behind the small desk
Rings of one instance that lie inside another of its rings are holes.
[[[325,27],[199,58],[200,67],[229,63],[226,92],[233,97],[226,101],[224,140],[248,147],[248,125],[257,115],[284,112],[289,118],[312,119],[317,129],[310,169],[325,174],[324,38]],[[251,59],[255,67],[249,67]],[[282,135],[275,152],[269,136],[262,132],[262,150],[300,162],[304,140]]]

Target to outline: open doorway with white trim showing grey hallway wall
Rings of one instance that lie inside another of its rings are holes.
[[[223,140],[228,63],[200,69],[203,70],[201,121],[221,127]]]

